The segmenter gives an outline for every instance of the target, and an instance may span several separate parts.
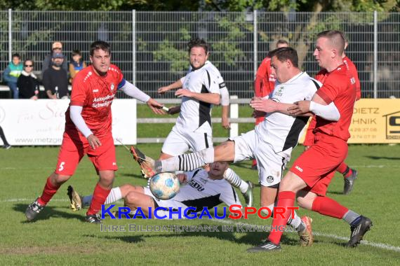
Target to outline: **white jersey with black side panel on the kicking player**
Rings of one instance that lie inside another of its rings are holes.
[[[274,91],[269,94],[269,99],[284,104],[293,104],[297,101],[310,101],[321,83],[301,72],[286,83],[275,81]],[[267,113],[265,120],[255,127],[256,134],[262,141],[267,142],[274,148],[275,153],[284,151],[290,155],[293,148],[298,144],[300,132],[307,124],[309,117],[288,116],[283,113]]]

